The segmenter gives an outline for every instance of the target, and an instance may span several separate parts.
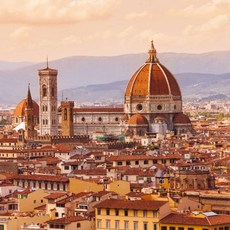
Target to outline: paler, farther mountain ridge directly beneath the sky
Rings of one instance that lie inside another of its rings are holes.
[[[49,67],[58,69],[58,90],[66,90],[91,84],[103,84],[129,80],[134,72],[145,63],[147,53],[123,54],[117,56],[72,56],[49,61]],[[208,74],[210,77],[230,73],[230,51],[216,51],[202,54],[159,53],[160,63],[174,75],[189,73]],[[18,103],[26,96],[27,84],[30,83],[33,98],[38,98],[38,70],[44,69],[46,62],[21,66],[17,69],[0,69],[1,91],[0,103]],[[195,75],[194,75],[195,76]],[[195,77],[197,81],[199,80]],[[185,78],[186,87],[190,78]],[[208,79],[206,79],[209,82]],[[224,81],[221,78],[221,81]],[[179,83],[180,84],[180,83]],[[213,83],[214,84],[214,83]],[[226,84],[226,83],[225,83]],[[223,84],[219,87],[226,87]],[[188,84],[189,85],[189,84]],[[208,84],[210,95],[212,87]],[[191,85],[190,85],[191,86]],[[227,87],[228,88],[228,87]],[[215,89],[214,91],[217,91]],[[226,91],[226,90],[225,90]],[[191,91],[188,91],[191,92]],[[113,91],[115,93],[115,91]],[[193,92],[191,92],[193,94]],[[205,97],[208,94],[205,92]],[[60,99],[60,97],[59,97]]]

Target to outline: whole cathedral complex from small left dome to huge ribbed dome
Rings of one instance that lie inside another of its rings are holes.
[[[124,106],[120,108],[75,108],[73,101],[62,101],[58,107],[58,71],[39,70],[39,106],[30,98],[18,104],[13,124],[25,122],[25,133],[34,135],[92,135],[104,134],[144,136],[147,133],[171,131],[175,134],[192,131],[189,118],[182,111],[180,87],[173,74],[160,63],[153,42],[145,63],[130,78],[124,92]],[[39,107],[39,109],[38,109]],[[28,114],[29,111],[29,114]],[[28,124],[33,111],[34,124]],[[39,111],[39,115],[38,115]],[[39,116],[39,119],[37,119]],[[39,120],[39,122],[38,122]],[[36,133],[36,134],[35,134]]]

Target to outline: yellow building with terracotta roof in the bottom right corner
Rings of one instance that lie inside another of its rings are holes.
[[[229,230],[230,216],[213,212],[171,213],[160,221],[160,230]]]

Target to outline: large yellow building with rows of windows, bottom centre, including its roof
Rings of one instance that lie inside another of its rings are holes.
[[[159,220],[169,213],[165,201],[107,199],[95,206],[96,230],[157,230]]]

